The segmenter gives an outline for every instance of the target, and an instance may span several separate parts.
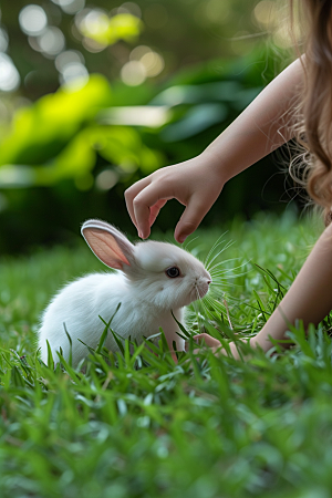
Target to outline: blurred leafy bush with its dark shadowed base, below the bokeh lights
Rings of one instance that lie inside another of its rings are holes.
[[[64,241],[87,217],[131,229],[124,189],[203,152],[273,77],[273,64],[260,49],[232,63],[219,60],[183,71],[167,85],[144,84],[135,93],[93,74],[81,86],[80,81],[63,85],[20,108],[0,142],[0,188],[8,206],[0,220],[13,234],[2,239],[1,250]],[[281,196],[281,177],[279,188],[276,180],[264,188],[272,167],[266,158],[234,179],[222,195],[222,211],[216,206],[208,221],[238,211],[250,217]],[[176,205],[166,208],[158,227],[174,226],[179,212]]]

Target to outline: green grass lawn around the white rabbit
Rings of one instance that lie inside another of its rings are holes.
[[[319,231],[291,214],[228,229],[222,243],[234,245],[218,257],[227,282],[214,291],[219,303],[193,313],[190,333],[227,338],[224,300],[234,331],[257,333]],[[220,232],[201,231],[189,248],[204,257]],[[84,245],[0,262],[1,497],[330,496],[330,320],[308,340],[299,324],[294,347],[247,362],[203,349],[175,364],[160,340],[157,354],[127,343],[108,363],[95,353],[84,374],[49,369],[35,355],[39,314],[65,281],[96,269]]]

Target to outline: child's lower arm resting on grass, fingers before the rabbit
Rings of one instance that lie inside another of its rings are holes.
[[[294,324],[297,319],[303,320],[304,328],[309,323],[320,323],[332,310],[332,225],[325,228],[313,250],[293,281],[290,290],[269,318],[262,330],[250,340],[250,345],[259,345],[263,351],[272,347],[269,335],[282,340],[289,330],[288,323]],[[221,344],[208,334],[196,335],[206,345],[220,350]],[[235,357],[237,352],[231,344]]]

